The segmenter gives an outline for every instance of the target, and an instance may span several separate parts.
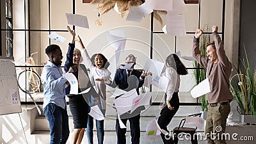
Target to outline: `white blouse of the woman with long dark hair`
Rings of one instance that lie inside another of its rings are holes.
[[[180,87],[180,75],[177,73],[177,71],[172,67],[166,67],[165,70],[165,76],[170,79],[168,86],[166,88],[166,100],[172,99],[172,95],[174,92],[179,92]]]

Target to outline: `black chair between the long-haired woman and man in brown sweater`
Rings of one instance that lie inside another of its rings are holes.
[[[201,116],[202,113],[196,113],[196,114],[193,114],[193,115],[188,115],[188,116]],[[178,143],[179,141],[179,138],[178,138],[178,135],[179,134],[189,134],[189,136],[191,136],[191,143],[192,144],[197,144],[197,139],[196,139],[196,136],[195,136],[195,133],[196,133],[196,128],[190,128],[190,127],[183,127],[184,124],[186,122],[186,118],[183,118],[182,120],[180,120],[180,124],[179,124],[179,127],[175,127],[173,129],[173,142],[175,144]]]

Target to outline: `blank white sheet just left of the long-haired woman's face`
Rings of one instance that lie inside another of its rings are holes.
[[[147,62],[145,63],[144,69],[148,70],[152,74],[160,75],[163,71],[164,63],[156,60],[152,60],[148,58]]]

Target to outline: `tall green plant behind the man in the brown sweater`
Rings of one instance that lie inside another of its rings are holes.
[[[208,30],[208,26],[205,25],[204,26],[204,31]],[[206,56],[206,47],[205,44],[206,42],[210,41],[210,35],[209,34],[203,34],[202,36],[200,36],[200,44],[199,44],[199,49],[200,52],[202,54],[202,56]],[[204,79],[206,78],[206,70],[205,68],[203,68],[199,63],[197,63],[196,61],[194,61],[194,68],[196,68],[194,70],[194,76],[196,79],[196,85],[199,84],[200,82],[204,81]],[[206,95],[202,95],[200,97],[200,102],[201,102],[201,108],[202,108],[202,117],[204,119],[206,119],[206,115],[207,115],[207,105],[208,105],[208,101],[206,100]]]

